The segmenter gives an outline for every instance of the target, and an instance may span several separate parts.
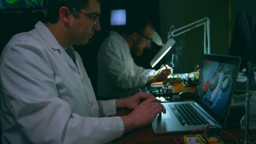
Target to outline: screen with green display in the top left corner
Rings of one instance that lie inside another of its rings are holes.
[[[0,11],[10,11],[10,10],[39,10],[45,9],[45,0],[35,0],[35,1],[3,1],[0,0]]]

